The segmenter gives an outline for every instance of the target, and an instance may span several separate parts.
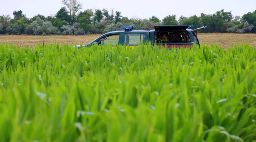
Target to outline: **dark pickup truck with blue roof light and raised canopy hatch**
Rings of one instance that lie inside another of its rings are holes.
[[[138,46],[141,43],[150,42],[152,46],[157,44],[159,47],[167,49],[177,48],[192,48],[194,44],[199,45],[197,38],[197,30],[206,28],[206,26],[190,29],[192,25],[156,25],[153,30],[142,31],[132,30],[133,26],[124,26],[125,31],[114,31],[103,34],[96,38],[88,45],[93,44],[105,45],[111,44],[115,46],[129,45],[130,47]],[[76,47],[80,47],[79,45]]]

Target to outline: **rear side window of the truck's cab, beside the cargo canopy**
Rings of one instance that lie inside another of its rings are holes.
[[[126,33],[125,45],[138,45],[145,39],[145,34],[142,33]]]

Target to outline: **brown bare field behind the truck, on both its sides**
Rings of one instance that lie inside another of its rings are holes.
[[[35,36],[35,35],[0,35],[1,44],[14,44],[20,48],[29,46],[33,48],[37,44],[42,45],[52,43],[60,44],[72,44],[80,45],[88,44],[100,35],[47,35],[47,36]],[[201,45],[214,45],[217,44],[222,48],[230,48],[235,44],[245,44],[256,48],[256,34],[232,34],[232,33],[198,33],[198,38]]]

